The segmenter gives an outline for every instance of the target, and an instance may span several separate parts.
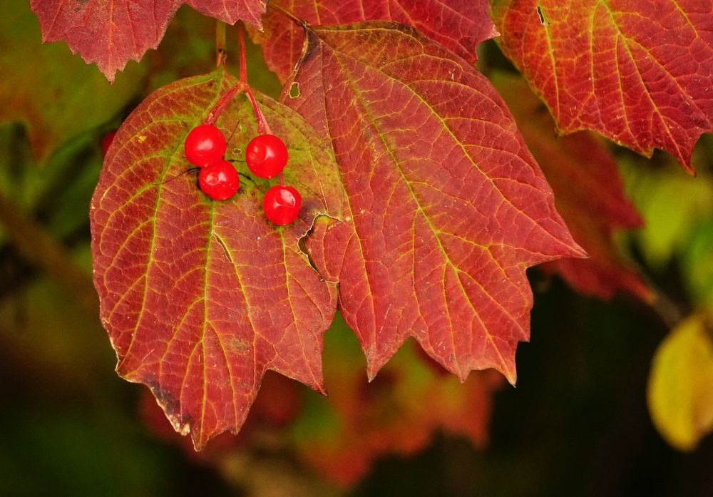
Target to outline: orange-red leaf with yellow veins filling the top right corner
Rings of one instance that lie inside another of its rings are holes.
[[[564,133],[596,130],[692,171],[713,130],[711,0],[491,0],[506,56]]]

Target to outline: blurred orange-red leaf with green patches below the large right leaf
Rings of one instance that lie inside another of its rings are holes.
[[[329,396],[307,392],[291,428],[294,451],[314,471],[353,484],[378,458],[415,454],[438,431],[486,444],[493,393],[505,384],[497,372],[478,372],[461,384],[425,364],[410,343],[414,347],[402,347],[368,383],[364,358],[342,319],[334,320],[325,341]]]

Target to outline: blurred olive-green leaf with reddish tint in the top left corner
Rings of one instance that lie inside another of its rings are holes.
[[[135,95],[144,71],[133,67],[111,86],[66,46],[39,46],[39,39],[29,6],[6,2],[0,16],[0,121],[24,123],[35,158],[46,163],[68,140],[113,118]]]

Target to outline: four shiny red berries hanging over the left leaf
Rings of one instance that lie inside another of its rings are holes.
[[[185,138],[188,162],[200,168],[198,186],[213,200],[232,198],[240,188],[235,167],[225,160],[225,136],[212,124],[196,126]],[[247,167],[260,178],[274,178],[287,164],[287,147],[275,135],[257,135],[245,150]],[[288,225],[297,219],[302,197],[291,186],[275,185],[265,193],[262,210],[276,225]]]

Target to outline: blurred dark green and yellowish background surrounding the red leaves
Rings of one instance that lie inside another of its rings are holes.
[[[257,437],[222,439],[196,456],[160,427],[145,388],[114,374],[98,320],[88,203],[101,138],[152,89],[212,69],[215,22],[183,7],[158,51],[109,86],[63,44],[41,45],[24,2],[3,4],[0,496],[713,495],[713,437],[689,453],[671,449],[652,426],[646,397],[652,357],[670,328],[713,309],[709,137],[697,146],[695,179],[665,154],[646,160],[616,150],[647,221],[620,242],[665,297],[655,309],[626,295],[588,298],[530,270],[532,342],[518,349],[517,388],[494,394],[487,444],[438,432],[424,451],[381,456],[340,486],[299,456],[309,451],[305,433],[336,422],[322,397],[295,384],[298,411],[279,422],[272,416]],[[251,83],[277,96],[259,48],[249,46],[249,59]],[[494,43],[483,44],[481,59],[486,72],[509,68]],[[363,372],[356,339],[340,322],[327,332],[325,355]],[[414,357],[400,352],[395,361]],[[371,395],[384,395],[376,384]]]

